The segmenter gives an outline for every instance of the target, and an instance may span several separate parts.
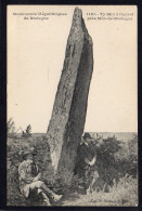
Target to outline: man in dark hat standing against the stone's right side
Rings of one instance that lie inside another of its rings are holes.
[[[78,146],[77,163],[75,172],[79,177],[78,190],[83,194],[92,192],[92,186],[99,177],[96,170],[96,151],[93,139],[89,133],[85,133],[82,142]]]

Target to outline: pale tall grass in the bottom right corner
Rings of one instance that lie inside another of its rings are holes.
[[[108,187],[108,192],[104,192],[104,188],[100,192],[96,189],[89,195],[79,195],[76,200],[64,202],[64,206],[137,206],[138,205],[138,183],[137,179],[126,174],[120,177],[114,185]]]

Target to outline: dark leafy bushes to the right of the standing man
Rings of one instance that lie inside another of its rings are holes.
[[[106,183],[107,186],[114,184],[114,180],[118,182],[119,177],[129,174],[137,176],[137,136],[128,141],[128,143],[118,141],[115,136],[105,140],[95,140],[94,147],[96,148],[96,166],[100,174],[100,180]]]

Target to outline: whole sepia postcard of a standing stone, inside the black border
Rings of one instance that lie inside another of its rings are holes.
[[[7,43],[7,206],[137,207],[137,5],[8,5]]]

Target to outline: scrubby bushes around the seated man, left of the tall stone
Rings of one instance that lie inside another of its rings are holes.
[[[44,136],[40,137],[8,137],[7,147],[7,185],[8,185],[8,205],[27,206],[27,200],[21,195],[18,187],[18,166],[23,161],[22,151],[28,148],[36,148],[38,154],[36,162],[43,175],[44,181],[53,180],[53,169],[51,166],[50,148]]]

